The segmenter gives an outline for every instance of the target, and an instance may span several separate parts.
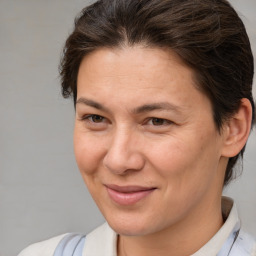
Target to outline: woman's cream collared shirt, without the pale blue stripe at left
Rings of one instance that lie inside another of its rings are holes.
[[[222,214],[226,221],[219,231],[191,256],[256,256],[256,240],[241,230],[237,209],[232,199],[222,198]],[[53,256],[66,234],[36,243],[18,256]],[[81,256],[117,256],[118,235],[107,223],[86,235]]]

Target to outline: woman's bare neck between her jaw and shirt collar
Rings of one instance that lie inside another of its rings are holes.
[[[120,235],[118,256],[165,256],[168,252],[172,256],[191,255],[205,245],[222,224],[219,197],[218,200],[202,203],[192,210],[188,218],[160,232],[145,236]]]

